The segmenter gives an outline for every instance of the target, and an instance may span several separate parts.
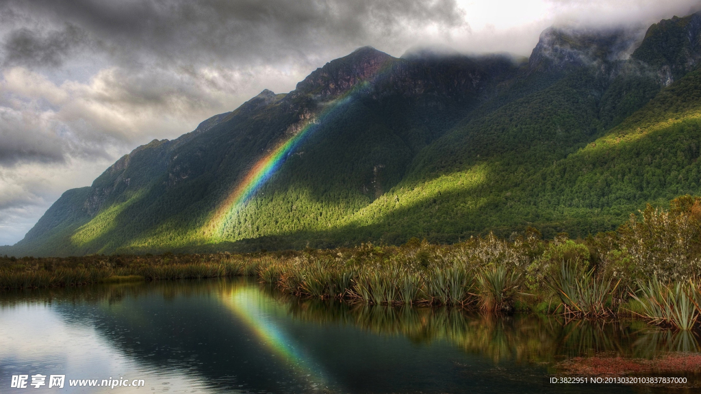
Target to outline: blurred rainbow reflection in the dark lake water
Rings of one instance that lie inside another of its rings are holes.
[[[313,388],[325,387],[327,379],[320,368],[297,346],[275,322],[275,315],[285,315],[279,304],[269,299],[257,287],[239,287],[220,294],[222,304],[245,323],[261,344],[271,350],[293,372],[304,378]]]

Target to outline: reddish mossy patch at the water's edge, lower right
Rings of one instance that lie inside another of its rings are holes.
[[[701,354],[672,353],[662,358],[575,357],[557,363],[562,373],[576,376],[700,374]]]

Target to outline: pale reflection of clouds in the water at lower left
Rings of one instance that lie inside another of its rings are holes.
[[[50,306],[20,305],[0,308],[0,387],[10,387],[13,374],[65,374],[61,393],[82,393],[79,387],[69,387],[69,379],[144,379],[144,388],[118,387],[118,393],[144,393],[149,390],[172,393],[203,393],[205,383],[182,371],[161,374],[144,369],[130,356],[104,341],[90,325],[67,323]],[[29,378],[31,383],[32,378]],[[48,377],[47,377],[48,383]],[[55,393],[48,384],[32,393]],[[10,393],[23,392],[11,389]],[[90,388],[90,393],[114,392],[111,388]],[[3,390],[5,393],[5,390]]]

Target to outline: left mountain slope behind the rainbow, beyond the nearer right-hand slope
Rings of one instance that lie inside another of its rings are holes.
[[[360,48],[287,95],[266,90],[193,133],[135,149],[72,207],[83,215],[43,220],[55,226],[32,230],[15,249],[155,250],[324,228],[399,182],[416,152],[516,72],[508,57],[411,62]],[[212,215],[231,208],[222,208],[227,196],[255,163],[300,136],[271,186],[212,229]],[[73,232],[57,236],[59,222]]]

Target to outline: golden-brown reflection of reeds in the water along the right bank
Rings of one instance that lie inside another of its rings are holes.
[[[569,320],[546,315],[498,316],[458,308],[391,308],[306,299],[268,292],[300,320],[362,327],[402,335],[416,343],[447,341],[494,362],[552,362],[608,353],[655,358],[669,352],[700,352],[697,333],[651,327],[639,320]]]

